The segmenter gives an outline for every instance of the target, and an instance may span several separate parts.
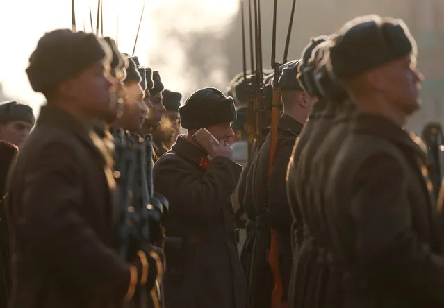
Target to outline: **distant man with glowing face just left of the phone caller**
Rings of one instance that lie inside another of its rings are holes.
[[[154,143],[158,145],[157,154],[159,156],[170,150],[180,134],[179,107],[182,99],[182,94],[167,89],[163,90],[162,96],[165,112],[161,124],[153,129],[153,139]]]

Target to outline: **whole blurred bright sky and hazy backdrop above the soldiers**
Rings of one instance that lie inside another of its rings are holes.
[[[292,2],[278,0],[277,60],[283,56]],[[76,0],[75,6],[77,29],[92,30],[91,8],[95,31],[97,1]],[[143,0],[103,0],[104,35],[118,36],[122,52],[133,51],[142,6]],[[261,0],[261,6],[265,69],[270,67],[273,1]],[[348,19],[372,13],[404,19],[418,43],[418,66],[426,80],[422,109],[408,128],[419,134],[429,121],[442,124],[443,0],[297,0],[289,60],[299,58],[310,37],[333,33]],[[224,90],[242,71],[240,25],[239,0],[146,0],[135,55],[142,65],[160,71],[167,89],[184,97],[206,86]],[[38,39],[55,28],[71,28],[71,1],[0,1],[0,101],[22,101],[38,114],[44,98],[32,91],[25,69]]]

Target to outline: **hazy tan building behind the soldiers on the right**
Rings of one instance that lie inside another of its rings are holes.
[[[264,68],[270,67],[273,2],[261,1]],[[290,0],[278,1],[277,60],[282,60],[292,3]],[[421,91],[423,105],[410,119],[407,127],[419,134],[422,126],[429,121],[444,124],[444,0],[297,1],[288,60],[299,58],[310,37],[333,33],[347,20],[368,14],[404,19],[418,43],[418,68],[425,75]],[[245,18],[247,22],[247,16]],[[246,36],[248,40],[248,32]],[[234,76],[242,68],[240,15],[227,40],[230,59],[227,69],[229,76]]]

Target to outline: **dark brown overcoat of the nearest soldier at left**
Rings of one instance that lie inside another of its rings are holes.
[[[11,307],[117,307],[128,289],[129,266],[113,252],[113,158],[91,134],[45,106],[20,153],[8,206]]]

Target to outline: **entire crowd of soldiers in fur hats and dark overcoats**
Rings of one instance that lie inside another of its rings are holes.
[[[417,56],[400,19],[312,38],[263,76],[273,149],[254,72],[181,104],[110,37],[46,33],[37,121],[0,105],[0,306],[444,307],[442,166],[404,129]]]

